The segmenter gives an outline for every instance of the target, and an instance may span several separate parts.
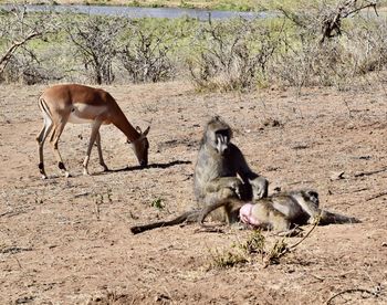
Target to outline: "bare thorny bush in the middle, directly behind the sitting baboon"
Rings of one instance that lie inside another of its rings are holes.
[[[199,90],[252,88],[266,77],[266,64],[280,42],[275,32],[254,21],[201,24],[188,59],[191,80]]]

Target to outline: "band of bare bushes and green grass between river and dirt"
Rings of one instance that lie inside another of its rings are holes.
[[[2,13],[0,82],[178,77],[198,91],[251,91],[271,85],[348,90],[383,81],[387,25],[369,2],[347,1],[343,8],[333,0],[292,3],[260,2],[282,12],[270,19],[206,22]]]

